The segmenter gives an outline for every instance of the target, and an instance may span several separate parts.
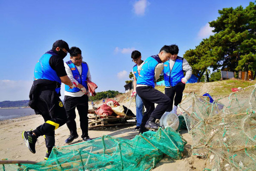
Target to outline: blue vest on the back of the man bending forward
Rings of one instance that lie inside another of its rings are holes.
[[[155,67],[162,63],[158,55],[148,57],[141,67],[141,70],[138,74],[137,84],[152,86],[155,87],[154,76],[155,76]]]

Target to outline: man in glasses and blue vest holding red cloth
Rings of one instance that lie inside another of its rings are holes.
[[[67,127],[70,135],[65,140],[71,143],[78,138],[77,125],[75,123],[75,108],[78,110],[80,117],[80,127],[82,130],[82,139],[84,141],[91,140],[88,136],[88,96],[87,96],[87,80],[91,81],[90,70],[88,64],[83,61],[82,52],[78,47],[71,47],[70,61],[64,63],[67,76],[72,82],[77,84],[74,89],[65,86],[64,105],[67,113]]]

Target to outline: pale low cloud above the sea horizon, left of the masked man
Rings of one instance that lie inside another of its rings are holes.
[[[28,100],[33,81],[0,80],[0,101]]]

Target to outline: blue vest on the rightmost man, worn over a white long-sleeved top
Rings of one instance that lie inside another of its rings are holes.
[[[172,70],[170,70],[170,63],[166,61],[164,63],[164,84],[167,87],[176,86],[181,79],[184,78],[184,72],[182,69],[183,58],[177,56]]]

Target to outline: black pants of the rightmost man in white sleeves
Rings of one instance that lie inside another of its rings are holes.
[[[170,106],[167,108],[166,111],[172,111],[173,99],[174,99],[174,105],[175,106],[177,106],[181,102],[182,95],[183,95],[183,90],[185,89],[185,85],[186,84],[184,84],[182,82],[179,82],[174,87],[170,87],[170,88],[165,88],[164,89],[165,90],[164,93],[171,100]],[[174,96],[175,96],[175,98],[174,98]]]

